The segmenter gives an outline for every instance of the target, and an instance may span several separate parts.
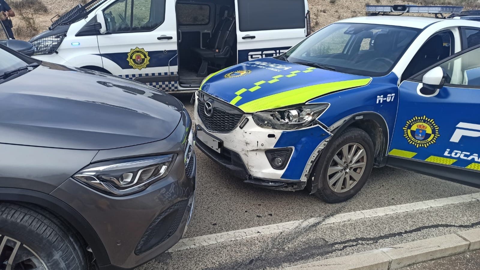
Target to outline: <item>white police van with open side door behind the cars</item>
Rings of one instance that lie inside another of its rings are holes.
[[[280,55],[310,31],[307,0],[92,0],[30,42],[39,60],[195,91],[207,74]]]

